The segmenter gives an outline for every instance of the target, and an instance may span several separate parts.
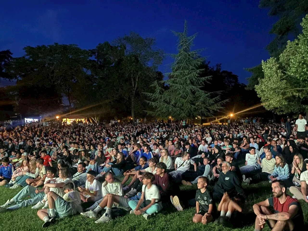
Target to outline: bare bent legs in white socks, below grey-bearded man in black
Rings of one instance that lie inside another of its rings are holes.
[[[220,211],[220,216],[215,220],[215,224],[221,224],[224,226],[238,226],[239,214],[242,213],[244,198],[240,195],[236,195],[232,199],[230,199],[228,193],[224,193],[217,210]],[[231,216],[233,217],[231,218]]]

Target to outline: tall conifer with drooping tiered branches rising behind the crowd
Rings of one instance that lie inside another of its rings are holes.
[[[213,112],[222,108],[218,92],[206,92],[202,88],[211,78],[200,77],[204,69],[200,66],[205,59],[201,57],[201,50],[191,51],[193,40],[197,34],[188,36],[187,22],[184,23],[184,32],[173,33],[179,37],[178,54],[173,54],[174,62],[168,73],[169,79],[155,81],[154,93],[144,93],[150,101],[147,101],[153,110],[146,111],[148,115],[156,117],[172,116],[175,119],[193,118],[195,116],[211,116]],[[163,85],[168,85],[164,91]]]

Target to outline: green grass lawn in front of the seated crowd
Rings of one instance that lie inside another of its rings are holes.
[[[258,201],[263,201],[271,197],[271,188],[268,181],[259,184],[244,185],[248,201],[246,203],[249,211],[252,211],[252,206]],[[197,189],[195,186],[181,185],[181,190]],[[0,187],[0,205],[4,204],[8,199],[11,199],[20,189],[9,189]],[[300,201],[304,211],[305,223],[307,224],[308,204],[305,201]],[[146,221],[142,216],[126,214],[122,217],[117,217],[111,222],[103,224],[95,224],[92,219],[85,218],[81,215],[66,217],[58,220],[55,225],[47,228],[47,230],[110,230],[110,231],[126,231],[126,230],[254,230],[254,225],[249,225],[241,229],[229,229],[221,225],[214,225],[213,222],[207,225],[194,224],[192,221],[195,214],[195,208],[185,209],[182,212],[176,211],[175,208],[166,208],[165,212],[159,213],[156,217]],[[42,230],[43,221],[36,215],[37,210],[31,209],[31,206],[14,211],[0,213],[0,226],[3,230]],[[151,228],[149,228],[149,226]],[[5,228],[4,228],[5,227]],[[270,230],[267,226],[263,230]]]

